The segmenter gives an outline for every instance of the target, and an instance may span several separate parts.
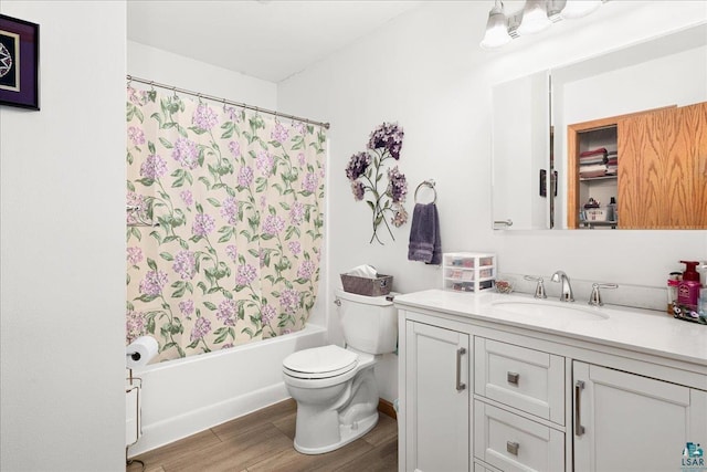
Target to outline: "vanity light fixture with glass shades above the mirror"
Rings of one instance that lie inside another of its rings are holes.
[[[526,0],[523,10],[507,17],[504,3],[495,0],[488,12],[483,49],[500,48],[511,39],[535,34],[563,19],[585,17],[609,0]]]

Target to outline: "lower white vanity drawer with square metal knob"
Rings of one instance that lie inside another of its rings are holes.
[[[474,401],[474,455],[504,472],[564,470],[564,433]]]

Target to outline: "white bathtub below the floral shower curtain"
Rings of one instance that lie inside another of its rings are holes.
[[[148,365],[141,379],[143,436],[134,457],[289,398],[283,359],[326,344],[318,325],[226,350]],[[127,418],[129,420],[129,418]]]

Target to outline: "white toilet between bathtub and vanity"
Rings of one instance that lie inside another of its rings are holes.
[[[378,422],[376,356],[392,353],[398,315],[386,296],[336,291],[346,349],[336,345],[291,354],[283,360],[285,386],[297,401],[295,449],[334,451]]]

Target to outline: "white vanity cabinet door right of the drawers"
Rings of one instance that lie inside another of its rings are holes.
[[[707,444],[707,391],[574,361],[574,470],[682,470]]]

